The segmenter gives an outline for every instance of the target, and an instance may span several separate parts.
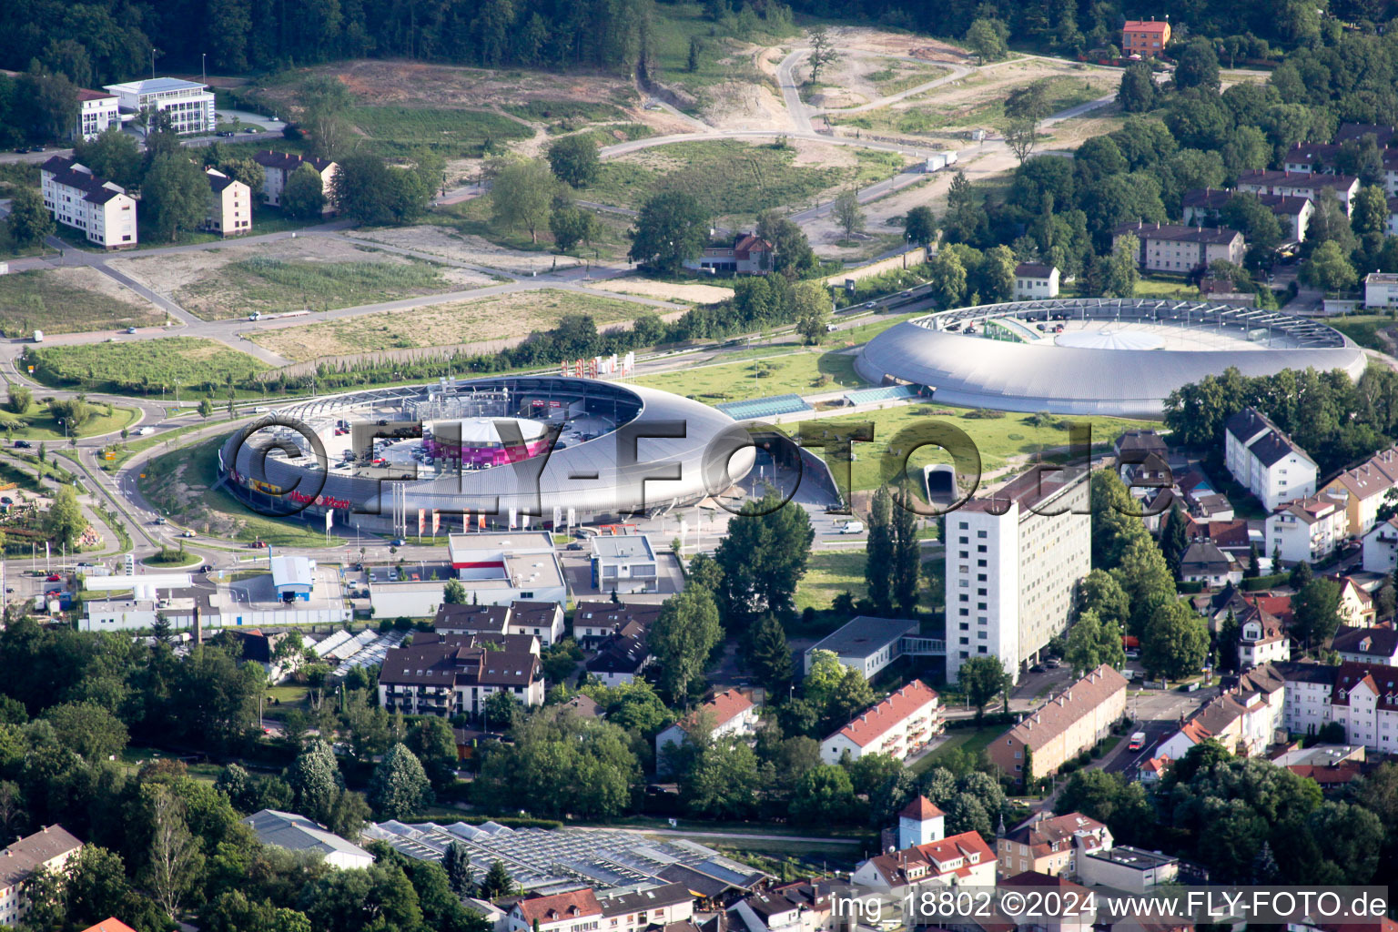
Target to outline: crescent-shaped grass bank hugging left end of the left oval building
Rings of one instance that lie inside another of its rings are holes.
[[[140,474],[141,495],[162,514],[197,531],[271,546],[324,546],[326,535],[289,520],[263,517],[214,489],[218,449],[225,437],[211,437],[152,458]]]

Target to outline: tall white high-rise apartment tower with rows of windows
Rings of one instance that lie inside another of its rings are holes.
[[[1018,682],[1092,570],[1088,471],[1039,465],[946,516],[946,678],[998,657]]]

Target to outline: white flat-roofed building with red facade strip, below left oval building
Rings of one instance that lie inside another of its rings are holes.
[[[452,573],[480,605],[566,602],[563,567],[547,531],[452,534]]]

